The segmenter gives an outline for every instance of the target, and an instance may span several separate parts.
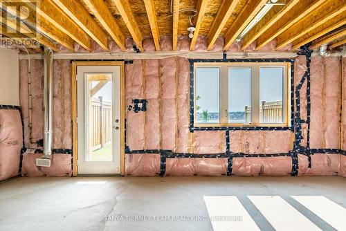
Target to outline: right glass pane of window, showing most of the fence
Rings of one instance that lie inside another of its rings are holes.
[[[260,68],[260,123],[277,124],[284,122],[284,68]]]

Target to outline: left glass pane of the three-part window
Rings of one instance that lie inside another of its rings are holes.
[[[194,100],[197,123],[219,123],[219,76],[219,68],[196,68]]]

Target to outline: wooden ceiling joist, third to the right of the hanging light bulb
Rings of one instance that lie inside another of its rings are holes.
[[[224,50],[227,50],[230,44],[242,33],[266,2],[267,0],[248,1],[226,33]]]

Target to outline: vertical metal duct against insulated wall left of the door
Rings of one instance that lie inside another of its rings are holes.
[[[51,158],[53,140],[53,51],[44,51],[44,158]]]

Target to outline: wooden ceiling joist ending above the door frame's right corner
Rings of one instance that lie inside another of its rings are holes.
[[[103,0],[82,0],[86,6],[93,12],[96,19],[100,21],[103,28],[111,35],[112,39],[116,41],[116,44],[121,50],[126,50],[125,48],[125,35],[120,30],[120,27],[116,23],[111,11],[107,7]]]

